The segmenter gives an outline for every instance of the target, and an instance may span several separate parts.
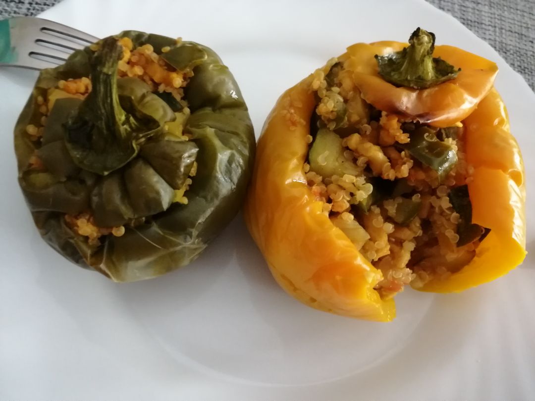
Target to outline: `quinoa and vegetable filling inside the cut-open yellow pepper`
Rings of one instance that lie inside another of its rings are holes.
[[[333,224],[383,274],[387,299],[443,280],[475,257],[488,230],[471,222],[462,121],[436,128],[375,109],[337,59],[317,70],[308,186]]]

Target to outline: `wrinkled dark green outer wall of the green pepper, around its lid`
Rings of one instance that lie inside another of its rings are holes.
[[[148,43],[157,52],[165,46],[178,46],[173,38],[137,31],[117,37],[125,36],[135,47]],[[50,210],[40,198],[61,200],[64,187],[45,188],[37,194],[28,190],[23,176],[36,145],[25,129],[39,121],[36,98],[56,87],[59,80],[89,76],[89,48],[75,51],[62,66],[41,71],[14,130],[19,182],[40,234],[68,260],[113,281],[150,279],[189,264],[234,218],[246,195],[255,137],[238,84],[211,49],[194,42],[182,45],[188,47],[188,61],[195,65],[184,97],[192,112],[184,130],[192,136],[188,142],[198,147],[197,175],[187,191],[188,204],[172,204],[142,225],[127,226],[123,236],[108,235],[101,246],[90,246],[67,227],[64,215],[87,207],[85,192],[91,188],[79,189],[78,204],[73,201],[78,199],[76,194],[70,194],[67,201],[57,202]]]

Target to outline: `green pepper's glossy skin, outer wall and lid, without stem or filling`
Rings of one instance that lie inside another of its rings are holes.
[[[194,76],[184,96],[191,110],[184,127],[191,135],[190,140],[164,144],[169,138],[162,135],[161,126],[169,121],[167,114],[171,109],[176,111],[177,104],[171,99],[162,104],[155,94],[144,93],[139,80],[120,79],[119,95],[129,97],[127,104],[142,115],[142,124],[148,124],[142,129],[137,127],[140,135],[134,137],[137,140],[133,143],[135,155],[131,161],[124,167],[115,166],[111,172],[105,171],[105,166],[98,166],[95,171],[101,174],[88,172],[73,163],[73,153],[69,153],[72,149],[64,145],[68,137],[65,129],[69,127],[67,121],[73,121],[67,118],[67,115],[72,116],[69,110],[76,109],[80,100],[59,99],[47,120],[48,126],[52,113],[57,112],[57,124],[48,136],[56,143],[57,150],[50,159],[60,157],[66,163],[53,168],[53,163],[47,165],[43,160],[49,182],[40,181],[35,186],[28,181],[29,158],[36,151],[39,155],[42,148],[26,134],[28,124],[39,124],[37,96],[56,87],[59,80],[89,76],[93,51],[86,48],[74,52],[64,65],[41,71],[17,122],[14,144],[19,183],[44,240],[73,263],[94,269],[114,281],[127,282],[150,279],[187,265],[232,220],[246,194],[255,137],[238,84],[211,49],[194,42],[177,44],[169,37],[137,31],[125,31],[117,37],[131,38],[135,47],[151,44],[157,53],[169,46],[171,50],[164,55],[169,64],[178,69],[193,67]],[[157,104],[161,107],[154,106]],[[93,118],[90,114],[88,118]],[[171,115],[174,116],[172,112]],[[77,127],[76,124],[71,126]],[[162,154],[172,156],[173,152],[176,158],[158,164]],[[80,159],[78,163],[83,164],[85,159]],[[186,192],[188,203],[169,206],[172,190],[184,183],[193,160],[197,161],[198,168]],[[124,180],[128,188],[134,190],[134,193],[127,191],[126,198],[125,191],[117,189]],[[109,207],[110,196],[113,209]],[[108,235],[104,241],[101,239],[101,246],[94,246],[67,227],[64,219],[65,213],[75,215],[90,207],[100,210],[102,223],[108,222],[109,226],[137,217],[136,213],[149,216],[141,225],[126,225],[123,236]]]

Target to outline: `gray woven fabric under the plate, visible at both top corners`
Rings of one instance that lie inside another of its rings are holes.
[[[0,0],[0,19],[34,16],[60,0]],[[535,0],[428,0],[489,43],[535,89]]]

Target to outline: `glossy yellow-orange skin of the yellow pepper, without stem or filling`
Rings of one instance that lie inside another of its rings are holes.
[[[463,68],[456,80],[423,90],[396,88],[378,78],[373,57],[403,46],[398,42],[356,44],[339,60],[354,68],[357,86],[368,95],[366,101],[377,107],[388,106],[384,108],[439,127],[464,119],[468,162],[475,167],[469,184],[472,221],[491,232],[469,265],[421,288],[462,291],[506,274],[524,259],[522,157],[509,132],[505,106],[492,87],[494,63],[439,46],[439,55]],[[476,72],[485,67],[488,70]],[[468,73],[470,68],[472,73]],[[463,72],[471,79],[464,79]],[[331,223],[322,212],[322,202],[314,200],[307,186],[303,163],[309,149],[310,117],[315,112],[310,83],[309,77],[287,90],[266,121],[246,200],[247,226],[280,286],[304,304],[348,317],[391,321],[394,300],[381,299],[373,289],[381,273]],[[400,105],[406,108],[401,110]]]

